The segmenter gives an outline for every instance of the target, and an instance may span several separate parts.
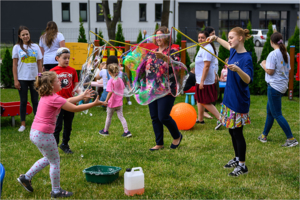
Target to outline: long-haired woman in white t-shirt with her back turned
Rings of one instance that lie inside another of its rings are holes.
[[[58,32],[55,22],[50,21],[47,23],[46,31],[40,38],[39,46],[44,56],[45,70],[49,71],[56,67],[58,63],[55,60],[56,51],[60,47],[65,47],[65,38],[63,34]]]

